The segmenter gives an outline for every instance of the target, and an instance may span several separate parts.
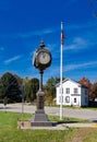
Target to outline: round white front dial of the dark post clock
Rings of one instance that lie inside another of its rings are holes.
[[[38,59],[41,64],[47,64],[50,61],[50,55],[48,52],[41,51],[38,56]]]

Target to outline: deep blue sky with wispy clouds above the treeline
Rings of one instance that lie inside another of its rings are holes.
[[[96,9],[97,1],[93,2]],[[65,34],[63,75],[76,81],[83,76],[97,80],[97,17],[89,0],[0,1],[0,76],[10,71],[38,78],[32,60],[41,39],[52,55],[44,82],[59,76],[61,21]]]

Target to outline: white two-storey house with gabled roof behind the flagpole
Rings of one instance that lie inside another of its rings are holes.
[[[88,87],[73,81],[65,79],[62,82],[62,97],[60,92],[60,84],[56,86],[57,91],[57,105],[65,106],[88,106]]]

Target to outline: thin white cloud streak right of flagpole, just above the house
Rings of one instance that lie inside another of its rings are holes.
[[[84,62],[80,64],[69,64],[64,68],[64,71],[71,71],[71,70],[81,69],[81,68],[90,68],[93,66],[97,66],[97,61],[89,61],[89,62]]]

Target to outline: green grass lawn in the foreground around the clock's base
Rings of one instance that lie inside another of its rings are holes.
[[[97,129],[95,128],[90,128],[90,130],[85,128],[72,128],[69,130],[54,131],[17,129],[17,119],[28,120],[31,118],[31,114],[20,116],[16,113],[0,111],[0,142],[73,142],[73,139],[83,139],[83,142],[87,142],[87,140],[88,142],[97,142]],[[49,118],[50,120],[59,119],[54,117]],[[82,138],[80,138],[78,134],[80,137],[82,135]],[[78,140],[75,142],[78,142]]]

